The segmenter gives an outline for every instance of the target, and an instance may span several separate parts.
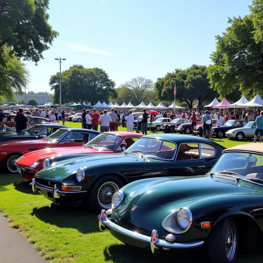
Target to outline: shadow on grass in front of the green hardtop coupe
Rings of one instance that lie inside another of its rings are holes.
[[[99,231],[98,215],[83,206],[63,206],[52,203],[50,206],[33,208],[31,215],[45,223],[58,227],[75,228],[83,234]]]

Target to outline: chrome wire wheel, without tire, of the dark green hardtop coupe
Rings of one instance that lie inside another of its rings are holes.
[[[119,186],[114,182],[106,182],[100,186],[98,191],[98,202],[103,208],[111,208],[112,195],[119,190]]]

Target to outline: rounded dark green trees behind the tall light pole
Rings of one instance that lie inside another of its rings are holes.
[[[49,85],[54,90],[53,103],[59,103],[59,72],[52,75]],[[100,68],[84,68],[73,65],[61,73],[62,104],[71,102],[108,101],[109,97],[116,98],[115,82]]]

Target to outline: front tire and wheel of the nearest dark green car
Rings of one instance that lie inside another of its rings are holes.
[[[213,263],[231,263],[236,261],[238,247],[238,229],[234,218],[222,219],[208,237],[208,258]]]

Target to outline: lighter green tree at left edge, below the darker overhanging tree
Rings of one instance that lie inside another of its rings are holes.
[[[14,55],[9,55],[10,48],[3,47],[5,65],[0,65],[0,94],[11,100],[13,93],[22,95],[25,85],[28,83],[29,72],[26,64]]]

